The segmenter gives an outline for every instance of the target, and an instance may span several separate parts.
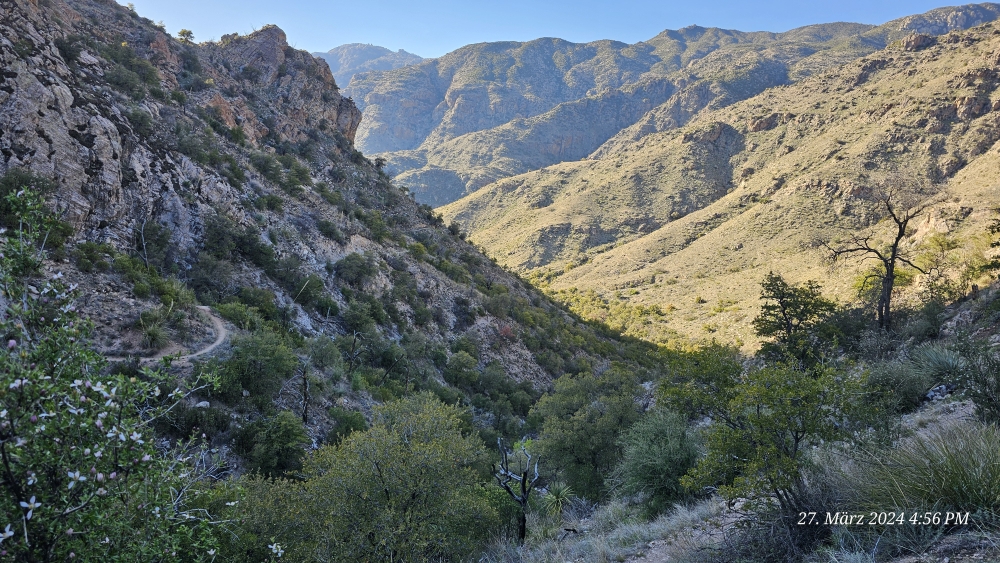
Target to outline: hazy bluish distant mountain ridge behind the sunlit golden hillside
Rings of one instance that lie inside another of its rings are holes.
[[[501,178],[600,157],[912,31],[964,29],[998,12],[981,4],[878,27],[833,23],[785,33],[692,26],[634,45],[482,43],[359,75],[345,93],[365,116],[358,146],[384,158],[418,201],[443,205]]]

